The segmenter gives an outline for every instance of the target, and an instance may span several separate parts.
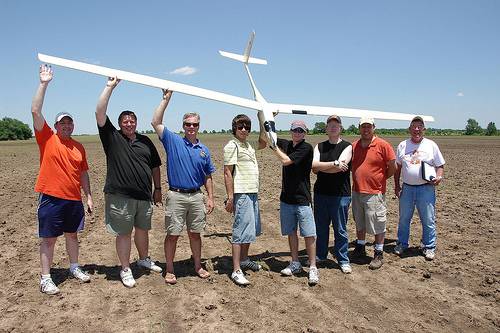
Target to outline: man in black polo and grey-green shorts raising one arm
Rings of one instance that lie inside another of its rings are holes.
[[[126,287],[132,288],[136,286],[130,269],[134,227],[134,242],[139,252],[137,264],[154,272],[162,271],[148,256],[153,200],[158,203],[162,199],[161,160],[153,142],[136,133],[137,117],[132,111],[123,111],[118,117],[120,130],[106,115],[109,98],[118,82],[120,80],[116,78],[108,79],[95,114],[107,162],[104,186],[106,230],[116,236],[116,252],[122,266],[120,278]]]

